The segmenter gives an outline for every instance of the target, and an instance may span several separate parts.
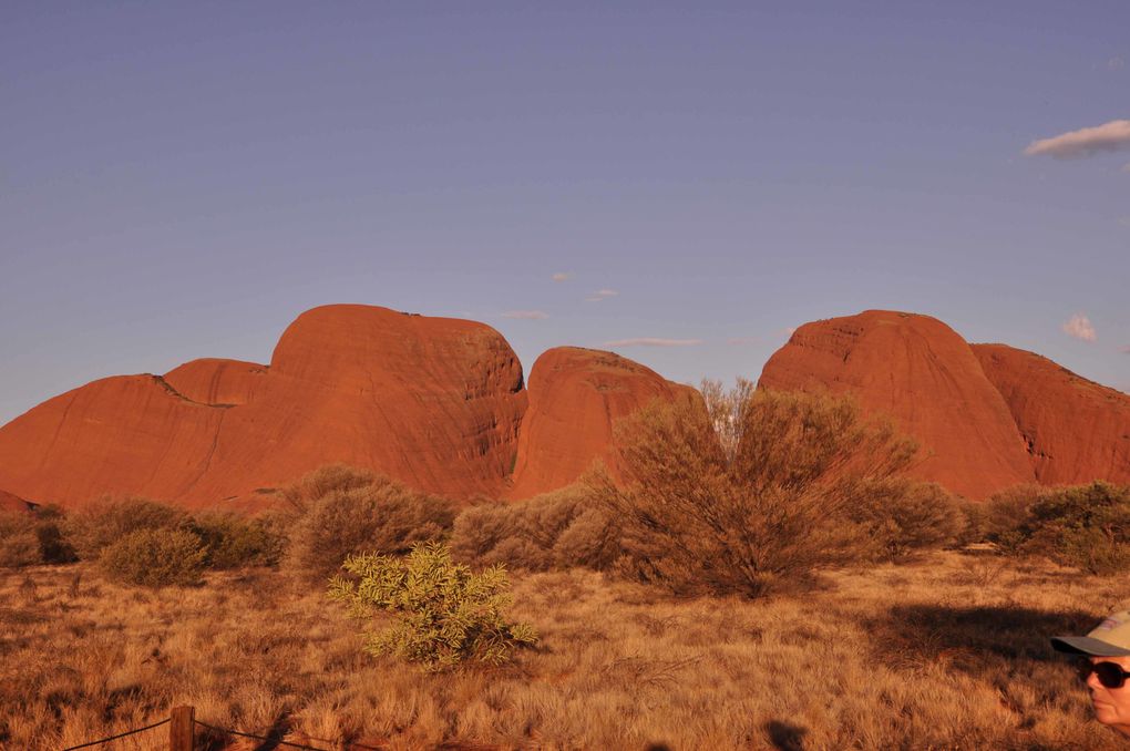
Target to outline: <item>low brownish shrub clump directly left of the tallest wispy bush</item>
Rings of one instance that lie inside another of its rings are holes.
[[[451,550],[457,560],[481,565],[602,570],[618,554],[618,536],[608,509],[582,480],[529,500],[467,508],[455,517]]]

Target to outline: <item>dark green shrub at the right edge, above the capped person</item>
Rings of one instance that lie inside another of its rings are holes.
[[[1090,574],[1130,569],[1130,486],[1093,482],[1050,492],[998,535],[1005,552],[1046,557]]]

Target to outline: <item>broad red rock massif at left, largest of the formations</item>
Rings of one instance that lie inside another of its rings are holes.
[[[254,505],[344,462],[496,496],[524,410],[521,365],[489,326],[332,305],[298,316],[270,366],[194,360],[40,404],[0,428],[0,487],[63,505],[106,492]]]

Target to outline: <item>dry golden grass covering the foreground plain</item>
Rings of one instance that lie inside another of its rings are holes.
[[[441,675],[364,655],[338,606],[285,574],[207,578],[139,591],[81,565],[0,573],[0,745],[72,745],[182,702],[327,749],[1119,745],[1045,637],[1089,628],[1130,583],[1053,566],[937,553],[766,602],[521,575],[511,615],[538,648]]]

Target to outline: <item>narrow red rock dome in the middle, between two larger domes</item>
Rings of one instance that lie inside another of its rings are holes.
[[[619,479],[616,421],[653,400],[689,393],[696,394],[611,352],[577,347],[546,351],[530,370],[529,410],[507,497],[530,498],[563,488],[598,459]]]

